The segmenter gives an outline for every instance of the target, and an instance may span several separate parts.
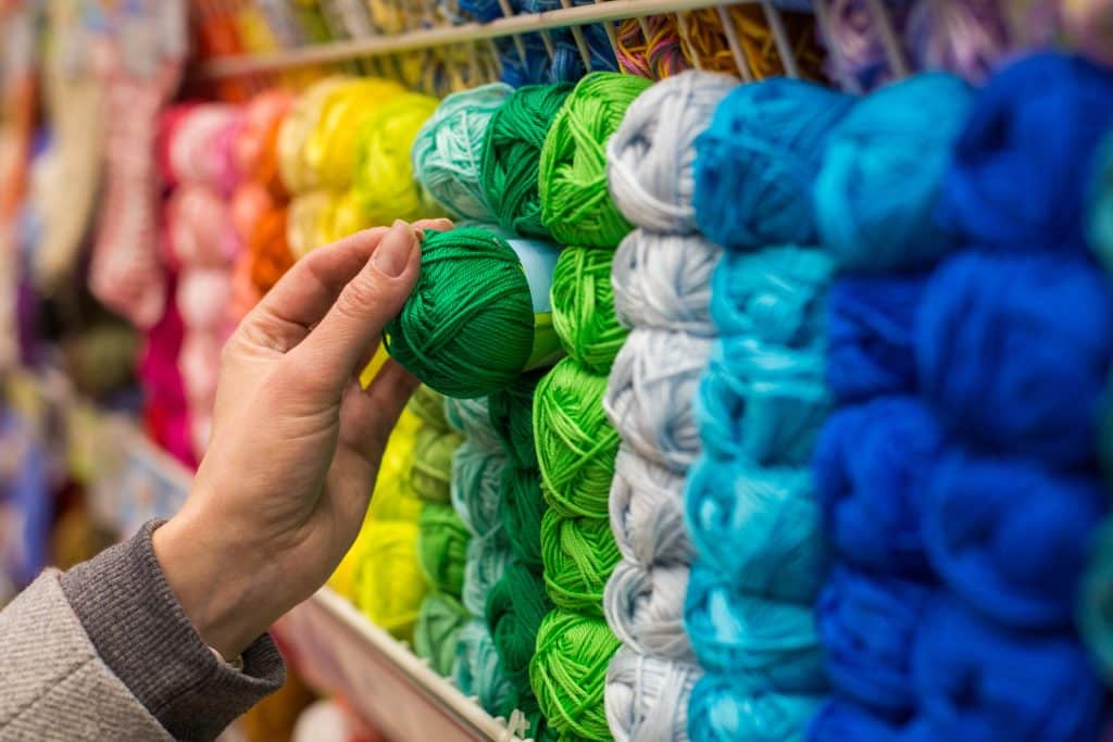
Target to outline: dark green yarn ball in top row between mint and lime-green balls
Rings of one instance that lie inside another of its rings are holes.
[[[549,127],[572,86],[528,85],[494,112],[483,141],[480,179],[499,224],[528,237],[550,238],[541,221],[538,168]]]

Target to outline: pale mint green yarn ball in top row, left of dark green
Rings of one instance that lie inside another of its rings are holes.
[[[414,174],[454,218],[494,220],[481,184],[483,140],[491,117],[512,92],[502,82],[454,92],[417,131]]]

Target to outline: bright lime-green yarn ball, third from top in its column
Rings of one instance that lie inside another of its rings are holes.
[[[607,377],[564,358],[533,395],[533,437],[549,506],[568,517],[605,518],[619,434],[603,412]]]

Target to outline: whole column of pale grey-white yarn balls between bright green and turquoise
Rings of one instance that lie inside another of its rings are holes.
[[[612,266],[630,336],[603,397],[622,442],[610,494],[622,560],[603,593],[608,625],[623,642],[605,690],[620,742],[689,740],[688,699],[702,674],[682,625],[691,557],[682,497],[699,453],[692,402],[715,332],[706,286],[720,250],[696,231],[692,165],[696,137],[736,85],[696,71],[661,81],[608,142],[610,192],[637,226]],[[692,255],[702,257],[686,260]]]

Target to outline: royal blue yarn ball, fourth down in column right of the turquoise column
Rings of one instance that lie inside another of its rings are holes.
[[[894,721],[913,714],[912,646],[933,592],[845,566],[831,571],[816,623],[836,693]]]

